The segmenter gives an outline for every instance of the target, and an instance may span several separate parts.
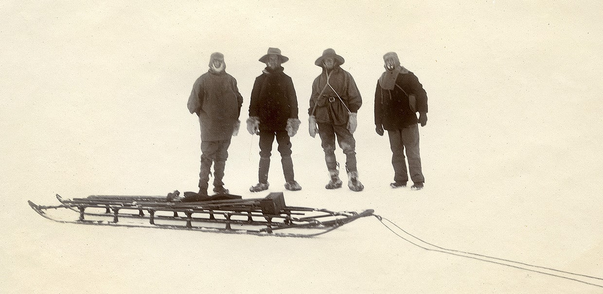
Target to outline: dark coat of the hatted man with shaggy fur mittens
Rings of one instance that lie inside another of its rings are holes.
[[[260,131],[284,131],[287,120],[297,119],[297,95],[283,67],[264,69],[251,90],[249,117],[259,119]]]

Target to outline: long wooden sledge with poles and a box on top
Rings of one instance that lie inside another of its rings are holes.
[[[243,199],[221,194],[195,202],[168,201],[178,198],[179,194],[176,190],[167,197],[91,195],[73,199],[63,199],[57,194],[60,205],[28,203],[41,216],[68,224],[280,237],[318,236],[361,217],[374,216],[372,209],[336,212],[287,206],[282,192],[270,193],[265,198]]]

